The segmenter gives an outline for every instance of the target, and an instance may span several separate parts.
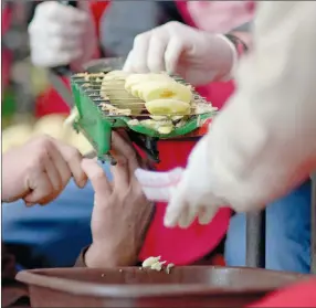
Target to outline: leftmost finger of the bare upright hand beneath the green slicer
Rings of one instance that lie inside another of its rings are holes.
[[[97,164],[96,159],[83,159],[82,169],[91,180],[95,195],[108,198],[112,193],[110,184],[103,169]]]

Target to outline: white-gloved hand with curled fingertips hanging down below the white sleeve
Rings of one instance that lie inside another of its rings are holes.
[[[193,148],[181,180],[171,193],[165,215],[165,225],[186,229],[196,217],[200,224],[209,224],[225,201],[214,195],[208,169],[208,144],[206,137]]]

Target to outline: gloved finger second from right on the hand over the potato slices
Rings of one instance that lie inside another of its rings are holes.
[[[167,49],[168,40],[152,35],[149,41],[147,65],[150,72],[160,73],[166,71],[165,52]]]

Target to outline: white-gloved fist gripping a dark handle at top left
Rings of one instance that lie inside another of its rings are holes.
[[[29,25],[31,60],[41,67],[72,64],[80,67],[89,61],[96,49],[96,33],[87,1],[78,8],[56,1],[36,7]]]

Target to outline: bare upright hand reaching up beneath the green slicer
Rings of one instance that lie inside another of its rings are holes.
[[[139,160],[133,146],[117,132],[113,135],[113,183],[95,160],[84,159],[82,168],[95,191],[92,214],[93,244],[85,254],[87,267],[135,265],[154,205],[141,192],[134,171]]]

